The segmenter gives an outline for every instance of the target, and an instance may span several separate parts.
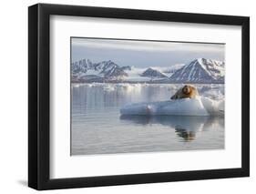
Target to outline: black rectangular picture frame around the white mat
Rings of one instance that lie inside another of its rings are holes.
[[[102,177],[50,179],[50,15],[241,26],[242,123],[241,168],[205,169]],[[28,7],[28,186],[69,189],[180,180],[250,176],[250,18],[78,5],[37,4]]]

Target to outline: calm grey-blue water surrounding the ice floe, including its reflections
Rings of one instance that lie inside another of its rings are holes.
[[[120,107],[167,100],[180,85],[73,84],[71,155],[224,148],[224,117],[121,117]],[[224,97],[223,85],[197,86]]]

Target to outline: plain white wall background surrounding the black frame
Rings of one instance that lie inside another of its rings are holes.
[[[137,9],[251,16],[251,178],[183,181],[91,189],[52,190],[46,193],[253,193],[256,182],[256,12],[253,1],[224,0],[41,0],[41,3],[113,6]],[[36,193],[27,179],[27,6],[34,0],[1,2],[0,11],[0,193]]]

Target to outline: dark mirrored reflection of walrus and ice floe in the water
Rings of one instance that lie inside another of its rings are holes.
[[[224,128],[224,117],[121,116],[120,120],[142,126],[153,124],[169,126],[174,128],[176,135],[184,141],[196,139],[198,132]]]

